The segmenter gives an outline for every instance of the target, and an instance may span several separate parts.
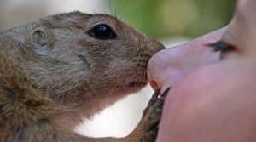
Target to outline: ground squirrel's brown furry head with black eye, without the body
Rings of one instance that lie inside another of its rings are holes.
[[[67,101],[143,88],[149,58],[164,48],[105,14],[56,14],[23,29],[27,77]]]

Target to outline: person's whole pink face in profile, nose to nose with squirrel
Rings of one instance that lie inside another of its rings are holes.
[[[256,141],[256,1],[241,0],[230,25],[154,55],[153,88],[172,86],[157,142]],[[205,46],[218,40],[235,50]]]

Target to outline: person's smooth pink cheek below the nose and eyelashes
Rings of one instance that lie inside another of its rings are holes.
[[[173,86],[158,142],[255,140],[255,73],[238,65],[208,65]]]

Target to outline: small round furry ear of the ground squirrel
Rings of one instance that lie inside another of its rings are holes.
[[[45,46],[51,43],[49,31],[44,28],[37,28],[31,33],[32,43]]]

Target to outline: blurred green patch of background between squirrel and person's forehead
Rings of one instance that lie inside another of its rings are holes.
[[[111,1],[110,1],[111,2]],[[234,0],[113,0],[113,14],[150,37],[198,37],[226,25]]]

